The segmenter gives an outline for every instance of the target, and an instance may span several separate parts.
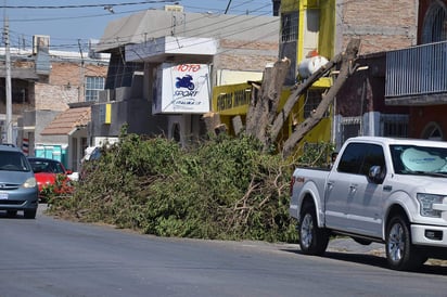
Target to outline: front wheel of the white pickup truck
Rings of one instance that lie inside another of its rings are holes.
[[[408,220],[397,215],[389,220],[385,238],[386,259],[394,270],[412,270],[426,261],[423,255],[411,243],[410,224]]]

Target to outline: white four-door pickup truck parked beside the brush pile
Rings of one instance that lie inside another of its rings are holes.
[[[395,270],[447,258],[447,142],[353,138],[331,169],[295,169],[291,193],[304,254],[343,234],[384,243]]]

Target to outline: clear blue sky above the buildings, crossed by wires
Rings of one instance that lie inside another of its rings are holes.
[[[13,48],[30,48],[34,35],[46,35],[52,50],[77,51],[99,40],[108,22],[175,2],[184,12],[272,15],[271,0],[0,0],[1,28],[8,18]]]

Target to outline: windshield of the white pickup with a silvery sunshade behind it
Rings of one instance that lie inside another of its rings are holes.
[[[447,148],[389,145],[394,171],[398,175],[447,177]]]

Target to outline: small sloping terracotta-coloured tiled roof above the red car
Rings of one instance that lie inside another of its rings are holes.
[[[91,120],[91,108],[74,107],[59,114],[40,133],[42,135],[68,135],[76,128],[86,127]]]

